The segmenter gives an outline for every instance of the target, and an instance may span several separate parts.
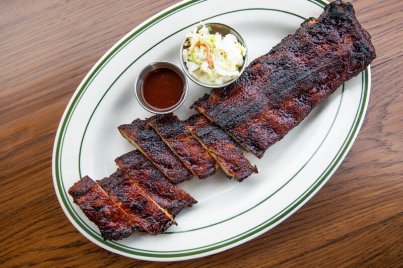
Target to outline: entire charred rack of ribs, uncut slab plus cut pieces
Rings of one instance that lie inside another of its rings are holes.
[[[172,113],[155,115],[119,126],[138,150],[116,158],[119,168],[109,177],[85,176],[69,194],[104,239],[164,232],[182,209],[197,203],[177,184],[211,176],[218,166],[238,182],[257,173],[235,141],[261,158],[369,65],[375,58],[370,38],[350,4],[332,2],[318,19],[307,19],[253,60],[234,83],[194,102],[199,114],[185,121]]]

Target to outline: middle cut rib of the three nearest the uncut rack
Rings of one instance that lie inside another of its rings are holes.
[[[216,161],[193,138],[177,116],[173,113],[155,115],[147,121],[194,175],[207,178],[216,173]]]

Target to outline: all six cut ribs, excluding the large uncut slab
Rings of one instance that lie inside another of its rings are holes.
[[[118,127],[138,150],[115,159],[118,169],[93,181],[85,176],[69,190],[104,239],[139,230],[156,235],[177,224],[175,216],[197,203],[178,183],[216,173],[219,165],[241,182],[257,172],[233,139],[204,116],[182,122],[172,113]]]

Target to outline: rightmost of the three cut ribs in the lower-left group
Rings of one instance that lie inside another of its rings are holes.
[[[185,207],[196,204],[190,195],[172,183],[140,151],[133,150],[115,159],[123,169],[158,205],[176,216]]]

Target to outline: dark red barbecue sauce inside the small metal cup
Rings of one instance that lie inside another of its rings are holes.
[[[185,94],[182,77],[174,70],[161,67],[150,71],[140,85],[140,94],[147,107],[154,111],[172,110]]]

